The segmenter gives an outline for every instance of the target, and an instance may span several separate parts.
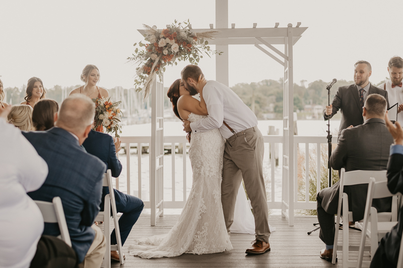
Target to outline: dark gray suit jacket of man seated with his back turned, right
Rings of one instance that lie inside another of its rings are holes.
[[[393,138],[386,129],[385,121],[371,118],[363,125],[342,131],[338,146],[331,153],[330,165],[335,170],[386,170],[390,144]],[[335,183],[326,189],[322,207],[328,213],[337,212],[339,185]],[[368,185],[347,186],[344,192],[349,196],[349,209],[353,211],[354,221],[364,218]],[[391,209],[391,198],[376,199],[372,205],[378,212]]]

